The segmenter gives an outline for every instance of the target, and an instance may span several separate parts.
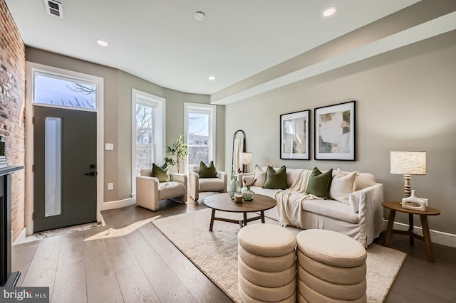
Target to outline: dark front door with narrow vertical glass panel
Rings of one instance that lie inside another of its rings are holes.
[[[96,112],[33,106],[33,232],[96,221]]]

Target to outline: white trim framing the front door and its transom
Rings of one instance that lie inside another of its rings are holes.
[[[104,80],[103,78],[87,75],[84,73],[78,73],[72,70],[64,70],[62,68],[54,68],[53,66],[32,63],[26,61],[26,102],[25,104],[25,117],[26,117],[26,146],[33,147],[33,94],[35,87],[33,87],[33,78],[35,73],[43,73],[48,75],[56,75],[64,78],[75,79],[81,82],[95,83],[97,86],[97,102],[96,102],[96,112],[97,112],[97,222],[102,222],[103,217],[101,216],[101,211],[103,210],[103,182],[104,182]],[[35,105],[38,105],[35,103]],[[48,105],[40,105],[48,106]],[[65,107],[73,108],[73,107]],[[74,107],[74,110],[88,110],[88,109],[79,109]],[[93,110],[91,110],[93,111]],[[26,159],[25,159],[25,174],[26,174],[26,235],[33,234],[33,148],[26,149]]]

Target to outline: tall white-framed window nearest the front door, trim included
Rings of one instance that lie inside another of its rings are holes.
[[[133,90],[132,195],[140,170],[162,164],[165,151],[165,99]]]

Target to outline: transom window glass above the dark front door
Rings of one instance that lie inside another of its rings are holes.
[[[33,102],[90,110],[95,110],[97,107],[95,85],[39,73],[35,75],[34,85],[35,98]]]

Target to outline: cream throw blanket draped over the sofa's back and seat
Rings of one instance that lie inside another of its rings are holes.
[[[307,182],[311,173],[311,170],[304,169],[293,181],[290,188],[276,191],[274,198],[277,201],[277,215],[279,216],[280,225],[284,227],[291,225],[297,228],[303,228],[301,222],[303,222],[302,205],[304,201],[314,199],[323,200],[320,197],[306,193]]]

